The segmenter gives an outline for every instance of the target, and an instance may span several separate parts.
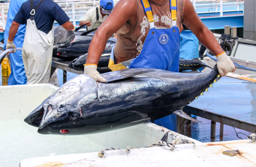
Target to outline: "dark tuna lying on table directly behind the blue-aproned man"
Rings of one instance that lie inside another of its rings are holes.
[[[102,55],[100,57],[100,60],[99,60],[98,66],[97,66],[97,71],[99,71],[99,73],[101,73],[101,74],[111,71],[111,69],[109,69],[109,67],[107,67],[107,66],[109,64],[109,57],[110,57],[111,50],[112,50],[113,46],[114,45],[112,44],[112,45],[109,45],[109,47],[106,47],[106,49],[104,50],[104,52],[102,53]],[[84,70],[83,64],[85,64],[86,59],[87,59],[87,53],[84,55],[81,55],[81,56],[77,57],[76,59],[74,59],[73,61],[71,61],[69,63],[69,67],[72,69],[83,71]],[[190,60],[180,58],[179,71],[185,71],[185,70],[196,71],[200,67],[209,67],[209,66],[207,66],[206,64],[204,64],[197,58],[190,59]],[[211,67],[209,67],[209,68],[211,68]]]

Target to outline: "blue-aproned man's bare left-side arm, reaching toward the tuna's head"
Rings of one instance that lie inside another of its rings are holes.
[[[86,64],[98,64],[100,56],[106,47],[107,39],[123,27],[128,20],[136,16],[135,1],[120,0],[93,35]]]

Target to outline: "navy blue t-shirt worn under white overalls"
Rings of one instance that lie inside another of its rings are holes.
[[[40,1],[41,0],[33,0],[34,9]],[[21,5],[21,8],[13,20],[19,24],[27,24],[27,20],[30,18],[30,12],[30,0],[28,0]],[[52,0],[45,0],[36,11],[34,19],[36,28],[48,34],[52,29],[54,20],[56,20],[59,25],[62,25],[69,20],[69,17],[57,3]]]

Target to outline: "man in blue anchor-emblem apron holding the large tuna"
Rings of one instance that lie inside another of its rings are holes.
[[[109,60],[112,71],[146,67],[178,72],[181,24],[216,55],[221,76],[235,71],[233,62],[202,23],[190,0],[120,0],[94,34],[84,64],[85,74],[106,82],[97,72],[97,64],[107,39],[116,31],[118,38]],[[164,118],[169,121],[170,117]]]

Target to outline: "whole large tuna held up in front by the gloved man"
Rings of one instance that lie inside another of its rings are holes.
[[[84,74],[69,80],[24,121],[39,127],[41,134],[82,135],[129,127],[172,113],[194,120],[182,108],[221,78],[216,66],[198,74],[131,68],[102,76],[107,83],[96,83]]]

